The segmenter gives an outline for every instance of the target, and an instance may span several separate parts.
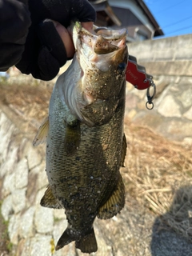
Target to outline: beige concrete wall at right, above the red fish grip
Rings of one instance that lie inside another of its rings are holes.
[[[156,75],[192,75],[192,34],[128,44],[130,55]]]

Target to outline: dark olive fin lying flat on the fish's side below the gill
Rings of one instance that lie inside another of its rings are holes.
[[[81,141],[80,121],[77,120],[75,126],[66,123],[65,149],[67,156],[73,155],[79,147]]]

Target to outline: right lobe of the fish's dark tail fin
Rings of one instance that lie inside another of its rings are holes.
[[[76,248],[82,253],[90,254],[98,250],[98,244],[94,235],[94,229],[90,230],[89,234],[84,235],[80,240],[75,242]]]

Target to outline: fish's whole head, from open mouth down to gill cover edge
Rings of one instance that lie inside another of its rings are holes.
[[[70,68],[61,75],[61,95],[78,120],[102,125],[113,116],[125,89],[126,29],[94,26],[88,31],[75,22],[72,36],[76,53]]]

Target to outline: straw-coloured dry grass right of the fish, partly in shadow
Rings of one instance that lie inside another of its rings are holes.
[[[192,241],[191,148],[126,121],[128,149],[122,174],[126,193]]]

